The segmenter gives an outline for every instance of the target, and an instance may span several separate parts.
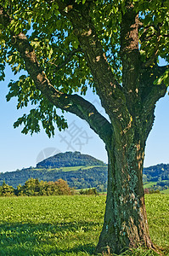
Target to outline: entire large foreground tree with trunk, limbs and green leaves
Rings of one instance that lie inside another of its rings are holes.
[[[67,127],[59,110],[85,119],[104,141],[108,193],[98,252],[156,247],[149,237],[142,180],[155,103],[166,94],[168,2],[165,0],[1,0],[1,79],[14,73],[7,100],[35,105],[14,123],[48,136]],[[84,99],[91,87],[109,119]],[[81,92],[76,94],[76,92]]]

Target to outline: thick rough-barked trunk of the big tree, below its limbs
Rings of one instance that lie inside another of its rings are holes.
[[[114,142],[107,148],[108,190],[98,252],[118,254],[140,246],[155,249],[144,203],[144,145],[137,138],[130,144]]]

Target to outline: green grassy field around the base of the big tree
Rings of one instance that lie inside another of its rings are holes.
[[[146,195],[152,240],[169,255],[169,195]],[[0,255],[93,255],[105,195],[0,198]],[[153,255],[127,253],[126,255]]]

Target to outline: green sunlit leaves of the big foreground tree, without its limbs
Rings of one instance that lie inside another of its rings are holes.
[[[25,62],[14,48],[12,35],[25,33],[36,52],[40,67],[56,89],[68,95],[75,92],[85,95],[88,87],[95,91],[96,84],[76,32],[70,20],[59,11],[59,2],[61,1],[1,0],[3,9],[11,21],[5,29],[0,25],[0,80],[5,78],[4,68],[7,64],[14,74],[21,73],[17,81],[8,84],[7,100],[17,97],[17,108],[26,107],[28,102],[35,106],[29,114],[24,114],[14,123],[14,127],[24,123],[22,132],[25,134],[28,131],[31,131],[31,134],[40,131],[40,121],[49,137],[54,135],[54,123],[58,125],[59,130],[65,129],[67,124],[64,116],[59,115],[58,109],[37,90],[34,81],[26,72]],[[91,1],[75,2],[80,8]],[[92,2],[90,16],[93,25],[112,73],[121,84],[121,11],[126,12],[126,1]],[[161,57],[168,62],[169,2],[134,0],[132,3],[139,14],[139,50],[142,61],[146,62],[155,55],[155,61]],[[70,8],[71,5],[67,5],[65,13]],[[166,70],[160,78],[156,78],[155,83],[161,84],[163,81],[168,84],[168,73]]]

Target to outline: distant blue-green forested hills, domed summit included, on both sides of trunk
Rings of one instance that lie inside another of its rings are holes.
[[[97,188],[105,191],[107,187],[107,166],[104,162],[80,152],[56,154],[37,164],[36,168],[26,168],[15,172],[0,173],[0,185],[5,181],[16,188],[29,178],[39,181],[64,179],[76,189]],[[144,168],[145,188],[168,189],[169,165],[160,164]]]

